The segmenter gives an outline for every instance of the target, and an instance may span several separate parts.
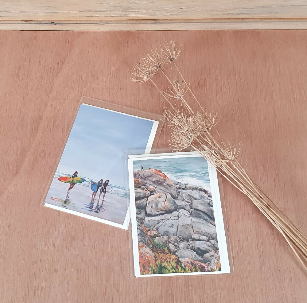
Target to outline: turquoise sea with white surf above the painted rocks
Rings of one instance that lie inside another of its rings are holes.
[[[142,159],[133,161],[133,170],[159,169],[171,180],[210,189],[208,162],[203,157]]]

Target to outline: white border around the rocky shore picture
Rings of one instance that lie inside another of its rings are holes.
[[[228,249],[226,242],[226,234],[223,220],[222,205],[220,199],[220,190],[217,179],[216,168],[208,162],[208,171],[210,179],[210,187],[212,194],[212,203],[214,218],[216,222],[216,235],[219,243],[221,271],[215,272],[200,272],[200,273],[177,273],[177,274],[140,274],[139,267],[139,252],[138,252],[138,232],[135,209],[134,196],[134,176],[133,176],[133,161],[146,159],[167,159],[167,158],[183,158],[183,157],[202,157],[197,152],[180,152],[180,153],[158,153],[151,155],[129,155],[128,156],[128,174],[129,174],[129,188],[130,190],[130,213],[131,213],[131,227],[132,227],[132,247],[133,247],[133,263],[135,277],[156,277],[156,276],[178,276],[178,275],[204,275],[204,274],[230,274],[230,264],[228,259]],[[131,203],[133,201],[133,203]]]

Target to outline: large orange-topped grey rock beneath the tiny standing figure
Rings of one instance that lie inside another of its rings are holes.
[[[156,192],[169,193],[174,199],[178,197],[177,188],[171,179],[165,176],[161,170],[145,169],[134,171],[134,186],[140,188],[141,186],[155,186]]]

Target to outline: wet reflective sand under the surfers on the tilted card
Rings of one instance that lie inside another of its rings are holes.
[[[100,191],[95,200],[91,200],[91,188],[75,184],[67,195],[68,183],[53,178],[45,203],[60,206],[75,212],[105,219],[114,223],[123,224],[127,212],[127,199],[107,192],[104,201],[98,200]],[[103,193],[101,194],[101,199]]]

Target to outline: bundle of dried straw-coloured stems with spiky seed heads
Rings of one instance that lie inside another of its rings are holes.
[[[212,115],[204,109],[177,66],[177,59],[180,54],[181,46],[177,47],[174,41],[163,44],[159,49],[146,54],[132,68],[132,74],[135,78],[131,80],[137,83],[150,81],[171,107],[170,110],[165,109],[165,116],[171,128],[170,145],[173,150],[196,150],[212,163],[217,171],[248,196],[277,230],[282,233],[307,270],[307,238],[248,176],[237,160],[240,147],[237,148],[223,141],[214,127],[218,122],[217,114]],[[164,69],[165,64],[173,65],[172,71],[178,73],[182,85],[178,80],[170,80]],[[156,72],[163,74],[169,86],[168,90],[161,90],[153,81]],[[195,99],[199,107],[197,111],[193,111],[190,107],[186,97],[187,93]],[[174,101],[179,101],[180,107],[176,108]]]

